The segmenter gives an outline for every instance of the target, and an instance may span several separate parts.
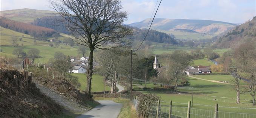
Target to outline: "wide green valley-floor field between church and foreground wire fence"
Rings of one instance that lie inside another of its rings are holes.
[[[208,75],[205,75],[208,76]],[[199,78],[206,79],[204,75],[198,76]],[[214,76],[208,76],[209,78],[215,78]],[[229,75],[221,75],[224,80],[230,79]],[[237,108],[221,108],[221,106],[229,107],[239,107],[239,108],[256,108],[252,106],[250,101],[245,101],[244,99],[250,100],[249,94],[241,94],[241,104],[236,104],[236,92],[232,89],[230,84],[220,84],[215,82],[208,82],[194,78],[187,78],[189,86],[179,87],[178,91],[181,94],[175,94],[173,92],[167,91],[141,91],[142,93],[154,93],[161,97],[162,101],[169,102],[172,100],[176,102],[176,105],[182,106],[178,103],[187,103],[192,100],[192,90],[189,87],[193,87],[193,103],[200,105],[211,105],[214,106],[215,103],[219,103],[219,111],[226,112],[241,112],[241,113],[251,113],[255,114],[255,109],[237,109]],[[149,84],[148,84],[149,85]],[[213,100],[213,99],[216,99]],[[167,103],[168,104],[168,103]],[[214,110],[214,107],[210,106],[200,106],[194,105],[194,108]],[[187,105],[183,105],[186,107]]]

